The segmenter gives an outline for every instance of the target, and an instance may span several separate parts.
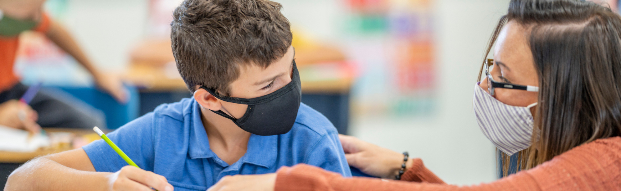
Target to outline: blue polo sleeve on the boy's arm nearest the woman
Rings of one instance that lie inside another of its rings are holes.
[[[304,163],[351,177],[351,170],[336,131],[320,138],[311,152],[307,154]]]

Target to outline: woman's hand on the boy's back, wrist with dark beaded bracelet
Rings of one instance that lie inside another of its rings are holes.
[[[403,154],[361,141],[353,136],[338,135],[338,137],[343,144],[345,158],[350,166],[384,179],[394,179],[399,174],[399,169],[403,164]],[[407,160],[406,168],[411,166],[412,160]]]

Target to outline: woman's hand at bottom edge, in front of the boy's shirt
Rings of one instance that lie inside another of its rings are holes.
[[[258,175],[227,175],[207,191],[273,191],[276,173]]]

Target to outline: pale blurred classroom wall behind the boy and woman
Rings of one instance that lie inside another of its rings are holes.
[[[145,35],[147,0],[68,0],[66,25],[101,68],[119,70]],[[339,42],[342,1],[276,0],[294,27]],[[496,177],[494,147],[474,120],[472,95],[479,62],[508,1],[436,0],[437,105],[430,117],[352,116],[353,135],[424,159],[450,184],[478,184]],[[355,96],[355,95],[353,95]]]

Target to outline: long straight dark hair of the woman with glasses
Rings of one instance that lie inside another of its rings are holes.
[[[621,17],[589,1],[512,0],[485,58],[509,21],[531,29],[540,90],[532,146],[520,151],[518,167],[530,169],[581,144],[621,135]],[[508,156],[503,163],[507,172]]]

